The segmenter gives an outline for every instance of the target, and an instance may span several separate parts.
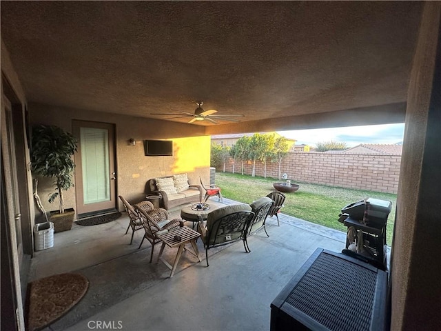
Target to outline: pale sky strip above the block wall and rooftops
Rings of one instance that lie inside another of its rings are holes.
[[[325,141],[345,142],[347,147],[360,143],[402,143],[404,123],[381,124],[377,126],[351,126],[310,130],[278,131],[285,138],[296,139],[296,145],[316,146]]]

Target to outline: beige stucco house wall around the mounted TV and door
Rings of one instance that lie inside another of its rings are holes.
[[[191,183],[199,183],[199,176],[209,179],[210,140],[209,136],[203,136],[203,132],[198,131],[203,131],[203,128],[170,121],[59,108],[39,103],[31,103],[29,110],[32,124],[56,125],[68,132],[72,132],[72,119],[114,123],[117,193],[131,203],[143,200],[145,182],[154,177],[187,172]],[[135,146],[130,145],[130,139],[136,141]],[[146,157],[144,139],[172,139],[174,141],[173,157]],[[74,190],[75,188],[72,188],[65,192],[66,208],[76,206]],[[57,209],[46,199],[50,192],[52,192],[51,181],[42,179],[39,183],[39,195],[47,211]],[[123,210],[120,201],[119,210]]]

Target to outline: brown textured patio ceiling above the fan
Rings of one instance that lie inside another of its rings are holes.
[[[390,112],[378,120],[386,123],[404,120],[421,8],[401,1],[1,1],[1,38],[30,102],[166,119],[150,113],[194,112],[202,100],[205,110],[245,115],[224,131],[245,122],[280,129],[358,108]]]

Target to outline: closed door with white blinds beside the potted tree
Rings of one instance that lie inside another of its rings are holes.
[[[74,121],[79,140],[75,156],[76,208],[79,217],[116,208],[114,126]]]

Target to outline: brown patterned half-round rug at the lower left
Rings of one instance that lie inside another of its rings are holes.
[[[28,285],[28,329],[41,330],[57,321],[84,297],[89,281],[82,274],[55,274]]]

